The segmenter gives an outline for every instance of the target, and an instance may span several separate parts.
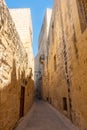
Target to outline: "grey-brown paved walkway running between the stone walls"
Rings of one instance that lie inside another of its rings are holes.
[[[65,116],[43,101],[35,101],[15,130],[78,130]]]

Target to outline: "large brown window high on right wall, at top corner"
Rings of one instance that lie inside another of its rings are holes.
[[[87,28],[87,0],[77,0],[81,31]]]

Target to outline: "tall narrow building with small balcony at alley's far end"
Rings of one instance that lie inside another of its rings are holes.
[[[42,96],[42,91],[43,91],[42,89],[44,89],[42,87],[42,82],[43,80],[46,80],[46,76],[47,76],[46,66],[47,66],[47,55],[48,55],[48,51],[47,51],[48,50],[48,34],[49,34],[51,14],[52,14],[52,10],[47,8],[45,17],[43,20],[43,24],[41,27],[40,35],[39,35],[39,40],[38,40],[38,55],[35,58],[35,72],[36,72],[35,83],[36,83],[36,88],[38,91],[37,93],[39,93],[39,96]],[[44,71],[43,71],[43,61],[45,61]],[[42,75],[43,75],[43,78],[42,78]]]

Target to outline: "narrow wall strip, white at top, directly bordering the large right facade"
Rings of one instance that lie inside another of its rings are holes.
[[[47,100],[48,95],[48,72],[47,72],[47,64],[48,64],[48,35],[49,35],[49,28],[50,28],[50,21],[52,16],[52,9],[47,9],[45,14],[45,20],[44,20],[44,32],[42,37],[42,46],[43,46],[43,54],[44,54],[44,63],[43,66],[43,76],[42,76],[42,95],[44,100]],[[45,39],[45,40],[43,40]]]

